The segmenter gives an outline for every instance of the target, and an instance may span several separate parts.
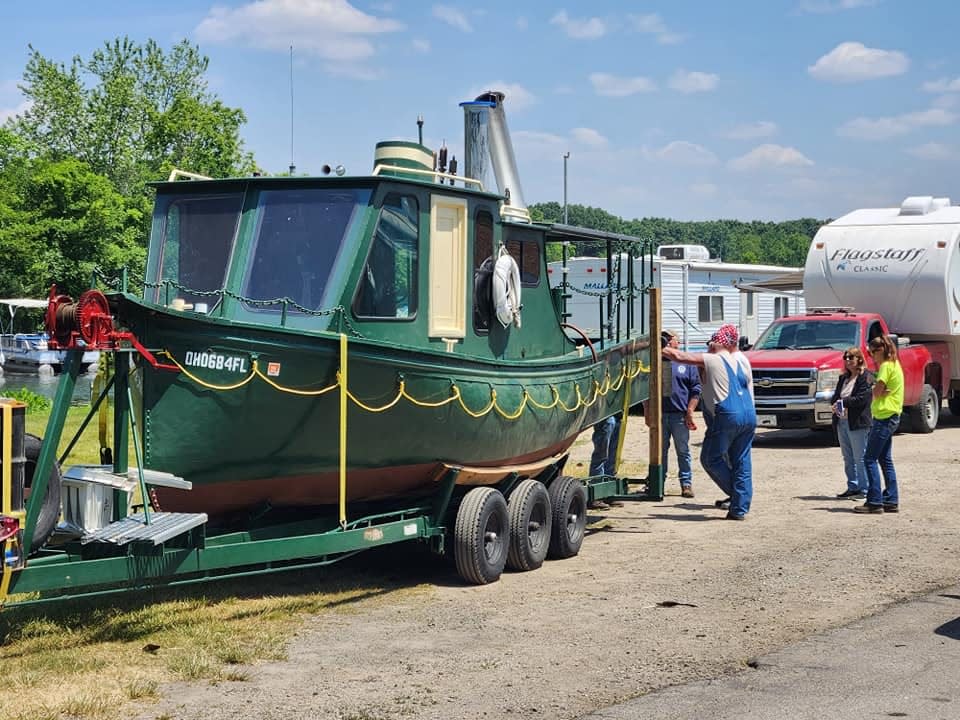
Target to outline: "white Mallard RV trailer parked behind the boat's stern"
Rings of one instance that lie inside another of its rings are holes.
[[[626,293],[627,256],[621,256],[620,280],[617,280],[617,258],[611,258],[614,289]],[[646,272],[650,272],[649,269]],[[693,352],[706,349],[710,336],[724,323],[737,326],[742,337],[756,340],[775,318],[805,311],[799,291],[777,291],[763,283],[799,268],[778,265],[747,265],[711,260],[709,250],[701,245],[661,245],[653,259],[653,284],[660,288],[662,327],[673,330],[680,338],[680,347]],[[551,287],[563,282],[563,263],[549,263],[547,273]],[[565,322],[576,326],[591,339],[601,336],[601,324],[607,325],[607,290],[609,287],[607,258],[574,257],[567,259],[568,314]],[[634,259],[633,283],[639,287],[644,278],[641,260]],[[639,293],[638,293],[639,295]],[[610,325],[613,336],[619,323],[621,333],[627,327],[625,307],[616,312],[613,303]],[[638,297],[634,300],[632,327],[646,325],[646,308]]]

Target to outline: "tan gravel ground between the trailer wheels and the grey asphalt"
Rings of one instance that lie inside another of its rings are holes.
[[[701,423],[702,425],[702,423]],[[699,450],[702,429],[694,433]],[[674,477],[663,502],[591,513],[578,557],[485,587],[415,547],[370,558],[416,592],[312,616],[289,659],[249,680],[178,684],[147,718],[374,720],[571,718],[666,685],[715,677],[960,575],[960,419],[898,435],[899,515],[859,516],[838,448],[821,434],[761,430],[747,522],[722,519],[696,467],[694,499]],[[573,451],[581,472],[589,433]],[[631,417],[628,468],[645,468]],[[674,475],[674,472],[671,471]],[[389,583],[387,583],[389,584]]]

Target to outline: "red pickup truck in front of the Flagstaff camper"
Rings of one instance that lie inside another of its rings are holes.
[[[747,352],[753,367],[757,424],[829,428],[830,397],[843,371],[843,351],[859,347],[867,366],[876,371],[866,346],[885,334],[890,333],[880,315],[844,308],[814,308],[805,315],[774,320]],[[933,432],[940,404],[950,391],[949,347],[944,342],[905,340],[899,338],[898,343],[904,376],[902,424],[914,432]],[[960,412],[960,400],[952,398],[950,409]]]

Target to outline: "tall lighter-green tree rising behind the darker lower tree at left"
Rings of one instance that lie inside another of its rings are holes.
[[[249,173],[255,165],[240,139],[246,117],[208,91],[207,66],[186,40],[165,53],[153,40],[117,39],[69,67],[30,46],[20,89],[32,104],[9,127],[35,156],[79,159],[125,195],[176,166]]]

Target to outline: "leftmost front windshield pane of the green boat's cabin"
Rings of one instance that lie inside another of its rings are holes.
[[[168,305],[179,298],[212,305],[219,299],[211,301],[206,293],[223,289],[242,203],[240,193],[157,199],[163,240],[156,277],[160,286],[148,290],[154,302]]]

